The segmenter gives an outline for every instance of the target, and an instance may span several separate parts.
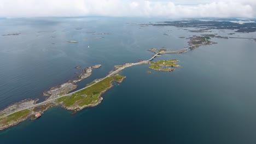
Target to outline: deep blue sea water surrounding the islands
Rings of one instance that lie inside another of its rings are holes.
[[[178,50],[187,46],[187,39],[178,37],[200,34],[133,24],[155,21],[161,20],[1,19],[1,35],[21,34],[0,37],[0,107],[26,98],[43,99],[46,89],[77,76],[74,73],[81,69],[74,69],[76,65],[102,64],[79,83],[81,88],[116,64],[150,58],[153,53],[146,50],[152,47]],[[86,33],[94,31],[110,34]],[[237,35],[256,34],[233,36]],[[66,43],[69,40],[79,43]],[[180,60],[182,67],[172,73],[146,74],[148,65],[127,68],[121,73],[126,79],[104,93],[100,105],[75,115],[51,108],[36,121],[28,119],[0,131],[0,143],[255,143],[256,43],[212,40],[218,44],[157,57]]]

